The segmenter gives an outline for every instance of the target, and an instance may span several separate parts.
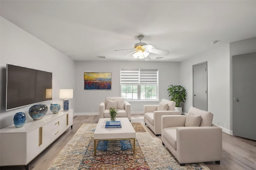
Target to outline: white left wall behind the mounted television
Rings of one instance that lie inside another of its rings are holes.
[[[27,119],[31,119],[28,115],[30,106],[5,110],[6,64],[52,72],[53,100],[42,103],[48,106],[48,112],[51,103],[59,103],[63,108],[63,100],[59,99],[59,89],[74,89],[74,61],[8,20],[1,17],[0,22],[0,128],[12,125],[14,114],[19,111],[26,113]],[[70,100],[70,109],[72,108],[74,99]]]

